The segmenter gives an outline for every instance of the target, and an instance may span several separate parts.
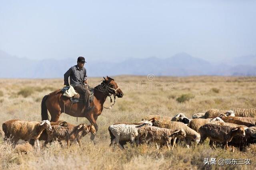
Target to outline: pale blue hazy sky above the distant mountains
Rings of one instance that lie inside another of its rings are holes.
[[[256,54],[256,0],[0,1],[0,50],[32,59]]]

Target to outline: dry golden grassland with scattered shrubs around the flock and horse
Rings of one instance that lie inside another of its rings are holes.
[[[114,109],[104,109],[98,117],[99,131],[95,144],[89,135],[82,140],[82,148],[72,145],[64,148],[54,142],[41,152],[32,149],[24,141],[21,146],[12,148],[0,138],[0,167],[2,169],[254,169],[256,167],[256,145],[248,152],[226,152],[214,150],[204,145],[186,149],[177,146],[173,151],[166,148],[156,150],[155,146],[126,146],[126,150],[112,148],[108,126],[115,122],[138,122],[146,115],[173,116],[194,113],[208,109],[230,110],[234,108],[256,107],[256,77],[156,77],[147,81],[146,77],[114,77],[124,91],[124,97],[117,99]],[[90,85],[97,85],[101,79],[91,78]],[[32,93],[24,97],[19,91],[32,87]],[[50,85],[50,86],[49,86]],[[49,87],[48,87],[49,86]],[[40,121],[40,101],[53,89],[63,87],[61,79],[0,79],[0,123],[10,119]],[[184,103],[176,101],[182,94],[194,98]],[[109,106],[109,100],[105,103]],[[84,118],[62,114],[61,120],[70,123],[88,123]],[[41,142],[42,144],[42,142]],[[251,159],[250,165],[204,165],[204,158]]]

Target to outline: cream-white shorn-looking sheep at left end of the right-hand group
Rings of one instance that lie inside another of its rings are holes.
[[[138,128],[143,126],[152,125],[151,122],[142,123],[140,125],[126,125],[126,124],[118,124],[118,125],[110,125],[108,127],[108,131],[110,134],[110,146],[114,143],[118,144],[121,149],[124,149],[124,144],[126,142],[131,141],[133,144],[138,144]],[[121,143],[120,143],[121,142]]]

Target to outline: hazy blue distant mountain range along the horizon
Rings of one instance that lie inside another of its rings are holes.
[[[36,61],[0,51],[0,63],[0,78],[62,78],[71,66],[76,65],[76,58]],[[112,61],[93,61],[86,63],[86,70],[88,77],[148,75],[149,73],[156,76],[256,76],[256,55],[223,60],[216,64],[192,57],[187,53],[178,53],[166,59],[157,57],[130,58],[115,63]]]

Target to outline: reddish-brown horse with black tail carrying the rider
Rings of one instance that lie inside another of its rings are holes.
[[[102,83],[94,87],[94,99],[90,103],[94,106],[94,109],[84,115],[83,111],[86,109],[83,102],[73,103],[68,97],[62,95],[61,90],[56,90],[48,95],[45,95],[41,103],[41,116],[42,120],[49,120],[48,112],[51,115],[51,122],[59,120],[61,113],[66,113],[73,117],[86,117],[92,125],[94,125],[96,131],[98,131],[98,125],[96,123],[98,116],[102,113],[103,104],[106,98],[110,95],[123,97],[124,93],[118,87],[114,79],[107,76],[103,77]],[[91,140],[94,139],[94,135],[91,133]]]

